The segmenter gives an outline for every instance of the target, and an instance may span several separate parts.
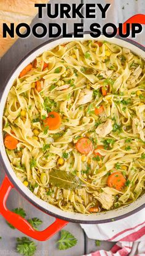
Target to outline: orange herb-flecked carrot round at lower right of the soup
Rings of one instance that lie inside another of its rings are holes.
[[[125,182],[126,180],[120,172],[113,172],[108,177],[108,186],[115,188],[116,190],[122,190]]]

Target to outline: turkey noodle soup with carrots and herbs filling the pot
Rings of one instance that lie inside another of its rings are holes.
[[[82,214],[143,194],[144,71],[129,49],[94,40],[59,45],[28,65],[10,89],[3,126],[23,184]]]

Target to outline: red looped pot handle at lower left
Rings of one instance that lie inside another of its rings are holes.
[[[22,233],[38,241],[45,241],[61,230],[61,228],[63,228],[66,224],[68,224],[68,222],[65,220],[56,218],[55,222],[53,222],[45,230],[34,230],[34,228],[29,224],[29,222],[27,222],[27,220],[25,220],[25,218],[22,218],[20,215],[7,209],[6,201],[12,188],[14,188],[14,185],[12,185],[9,178],[5,177],[0,188],[0,213],[7,220],[7,222],[15,226],[15,228],[20,230]]]

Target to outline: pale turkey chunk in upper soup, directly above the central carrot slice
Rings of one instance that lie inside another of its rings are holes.
[[[79,99],[77,100],[78,105],[84,105],[88,102],[92,102],[93,90],[84,89],[80,92]]]

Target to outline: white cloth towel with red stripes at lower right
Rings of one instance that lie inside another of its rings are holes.
[[[117,241],[109,252],[98,250],[85,256],[145,256],[145,209],[116,222],[81,226],[90,239]]]

